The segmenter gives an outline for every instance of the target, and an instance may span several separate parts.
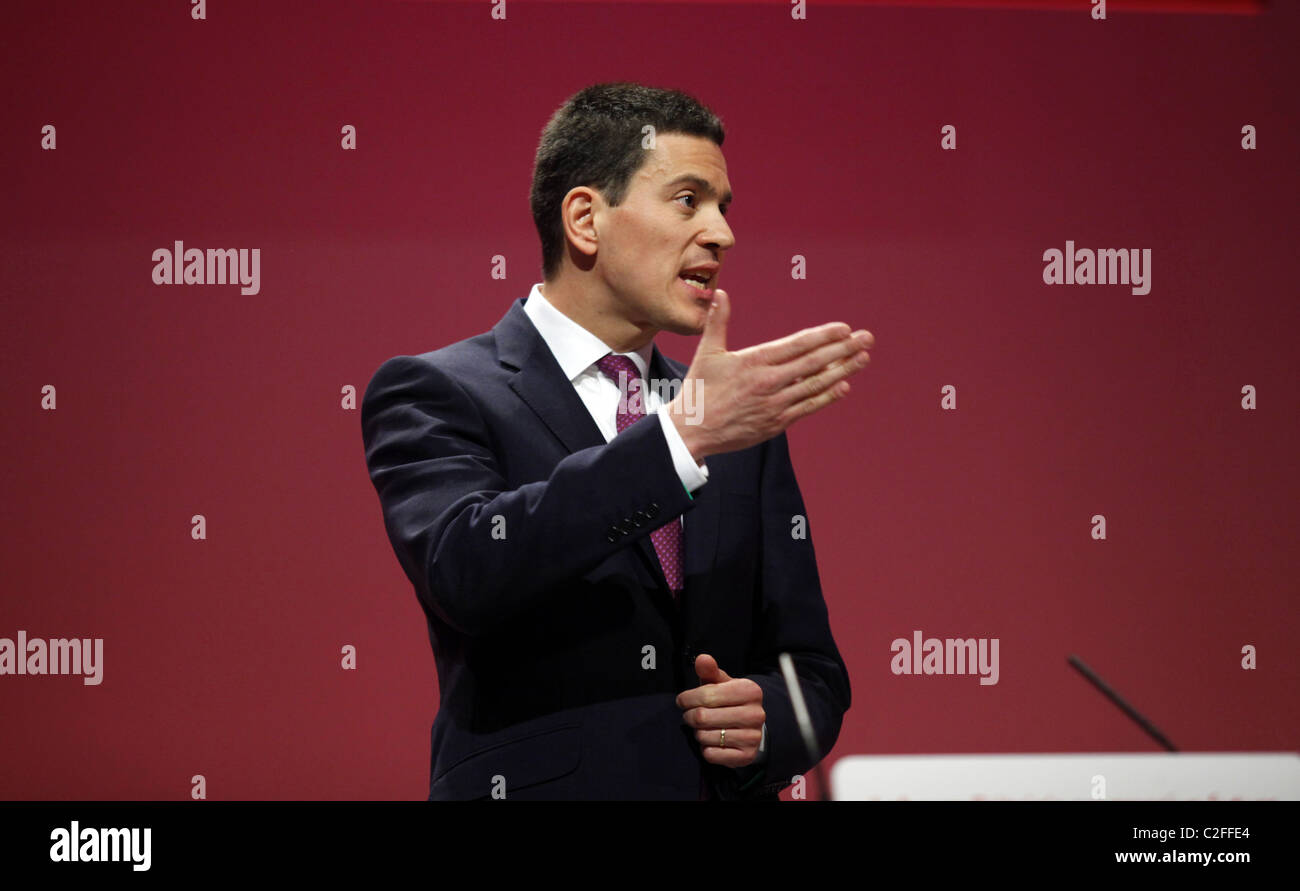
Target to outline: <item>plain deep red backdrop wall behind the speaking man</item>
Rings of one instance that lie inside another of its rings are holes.
[[[616,79],[727,126],[733,346],[876,336],[790,431],[853,680],[828,765],[1153,751],[1067,653],[1184,749],[1295,749],[1300,10],[1072,7],[10,10],[0,636],[105,665],[0,676],[0,797],[426,795],[437,676],[341,389],[540,280],[538,134]],[[261,293],[153,285],[177,239],[260,248]],[[1150,293],[1044,285],[1066,239],[1150,248]],[[894,676],[916,628],[998,637],[1000,683]]]

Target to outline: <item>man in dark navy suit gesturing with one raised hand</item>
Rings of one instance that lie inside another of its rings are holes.
[[[676,91],[576,94],[533,173],[543,282],[367,388],[438,667],[430,800],[775,799],[811,766],[781,652],[823,753],[838,735],[849,679],[784,429],[842,398],[872,338],[727,350],[723,135]],[[689,369],[660,330],[702,334]]]

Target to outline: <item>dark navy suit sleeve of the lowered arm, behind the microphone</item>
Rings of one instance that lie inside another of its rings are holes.
[[[794,661],[809,717],[824,757],[840,735],[849,709],[849,672],[831,635],[822,580],[812,550],[811,527],[790,463],[785,433],[768,441],[762,468],[762,572],[754,666],[745,676],[763,688],[767,713],[767,757],[762,766],[733,773],[737,797],[771,795],[812,767],[794,721],[777,657]],[[796,539],[793,518],[805,519],[805,537]]]

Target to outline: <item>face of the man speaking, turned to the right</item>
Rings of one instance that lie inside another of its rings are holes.
[[[736,243],[724,212],[731,204],[727,161],[703,137],[656,137],[619,207],[598,204],[594,272],[610,311],[642,330],[699,334],[718,286],[724,252]],[[682,273],[699,267],[705,290]]]

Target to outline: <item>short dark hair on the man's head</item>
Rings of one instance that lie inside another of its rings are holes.
[[[655,137],[680,133],[723,144],[723,122],[692,96],[640,83],[597,83],[560,105],[542,130],[533,161],[529,202],[542,239],[542,278],[550,281],[564,256],[560,204],[572,189],[592,186],[610,206],[627,196],[632,174],[645,164],[642,127]]]

